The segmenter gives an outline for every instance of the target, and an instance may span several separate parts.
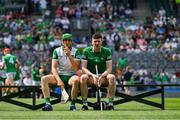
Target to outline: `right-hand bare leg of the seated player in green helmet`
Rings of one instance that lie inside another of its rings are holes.
[[[75,102],[76,102],[76,99],[78,97],[78,92],[79,92],[79,77],[77,75],[72,76],[69,79],[68,84],[70,86],[72,86],[72,88],[71,88],[71,106],[70,106],[70,110],[75,111],[76,110]]]

